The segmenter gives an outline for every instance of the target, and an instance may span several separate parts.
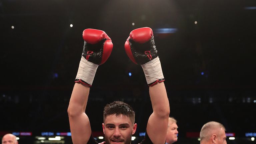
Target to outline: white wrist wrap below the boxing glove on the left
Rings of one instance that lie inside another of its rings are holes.
[[[99,65],[89,62],[82,56],[80,60],[79,68],[77,71],[76,79],[83,80],[84,82],[86,82],[91,86],[98,66]]]

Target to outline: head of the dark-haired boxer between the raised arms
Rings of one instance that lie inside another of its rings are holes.
[[[114,101],[104,107],[102,123],[107,144],[130,144],[137,124],[132,107],[121,101]]]

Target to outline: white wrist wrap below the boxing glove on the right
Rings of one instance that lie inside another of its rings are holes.
[[[164,81],[161,63],[158,57],[141,65],[148,85],[157,81]]]

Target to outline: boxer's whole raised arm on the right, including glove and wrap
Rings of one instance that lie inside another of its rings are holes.
[[[153,113],[147,123],[147,134],[153,144],[164,144],[170,107],[152,29],[144,27],[131,31],[125,51],[134,63],[142,66],[149,85]]]

